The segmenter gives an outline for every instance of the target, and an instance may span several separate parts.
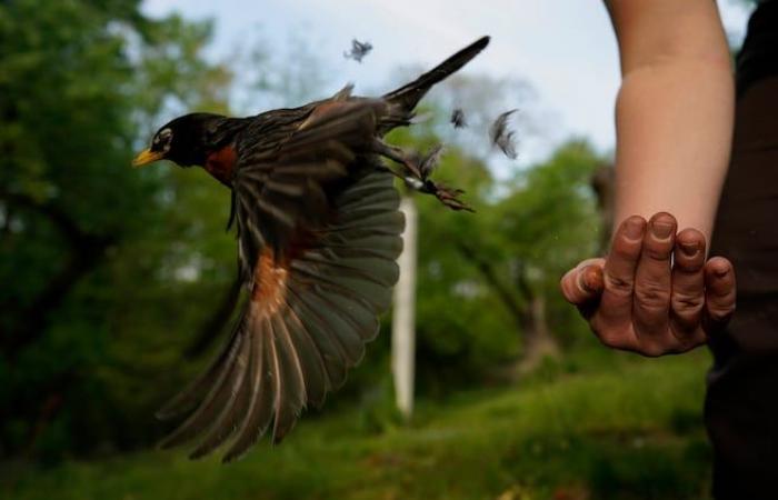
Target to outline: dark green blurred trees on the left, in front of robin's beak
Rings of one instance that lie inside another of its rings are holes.
[[[129,168],[176,102],[223,109],[229,73],[202,59],[209,33],[130,0],[0,6],[0,452],[148,439],[136,422],[159,394],[142,389],[178,359],[159,352],[164,332],[203,312],[173,314],[229,283],[213,263],[229,237],[192,251],[221,232],[225,193]],[[193,261],[219,279],[180,279]]]

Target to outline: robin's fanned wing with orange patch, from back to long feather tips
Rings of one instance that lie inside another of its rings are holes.
[[[359,108],[313,112],[277,149],[275,166],[256,161],[236,174],[250,296],[221,354],[158,413],[193,409],[163,446],[200,438],[196,458],[231,441],[230,461],[271,424],[278,442],[361,359],[390,303],[405,224],[393,177],[361,156],[369,138],[359,127],[373,117]],[[327,133],[333,127],[340,132]]]

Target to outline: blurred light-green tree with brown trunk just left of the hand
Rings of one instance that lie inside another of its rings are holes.
[[[559,302],[561,274],[597,251],[601,226],[589,182],[601,163],[585,141],[570,141],[517,177],[512,192],[497,207],[493,232],[507,250],[506,276],[522,299],[517,308],[517,321],[525,326],[519,371],[558,350],[549,301]]]

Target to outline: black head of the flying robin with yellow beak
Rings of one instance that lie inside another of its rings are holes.
[[[159,160],[170,160],[179,167],[202,166],[223,120],[225,117],[211,113],[176,118],[154,133],[151,146],[132,160],[132,166],[143,167]]]

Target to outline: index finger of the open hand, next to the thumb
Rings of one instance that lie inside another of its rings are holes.
[[[604,269],[602,298],[591,327],[607,346],[629,349],[636,338],[631,329],[635,270],[642,248],[646,219],[632,216],[614,234]]]

